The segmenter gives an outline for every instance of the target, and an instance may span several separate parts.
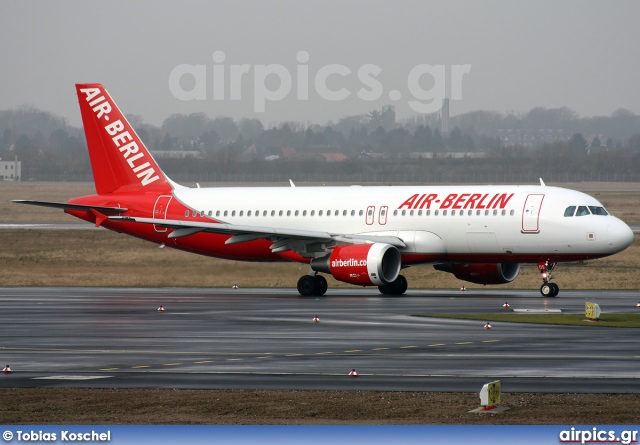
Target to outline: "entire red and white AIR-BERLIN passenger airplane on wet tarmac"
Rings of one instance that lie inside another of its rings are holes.
[[[187,252],[310,266],[302,296],[329,274],[384,295],[408,288],[402,269],[433,265],[478,284],[513,281],[537,264],[555,297],[561,262],[621,252],[627,224],[595,198],[540,185],[189,188],[165,175],[101,84],[77,84],[96,194],[66,203],[14,200]]]

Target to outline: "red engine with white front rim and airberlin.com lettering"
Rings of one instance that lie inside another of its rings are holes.
[[[360,286],[389,284],[398,278],[401,266],[398,249],[384,243],[338,246],[330,255],[311,260],[313,270]]]

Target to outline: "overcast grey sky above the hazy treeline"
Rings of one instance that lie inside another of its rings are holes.
[[[0,109],[80,125],[74,84],[95,82],[154,125],[199,111],[325,124],[387,104],[404,118],[443,94],[452,115],[640,114],[639,18],[635,0],[3,0]]]

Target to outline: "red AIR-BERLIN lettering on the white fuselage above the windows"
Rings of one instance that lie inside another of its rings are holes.
[[[442,197],[437,193],[416,193],[400,204],[398,209],[504,209],[513,195],[513,193],[450,193]]]

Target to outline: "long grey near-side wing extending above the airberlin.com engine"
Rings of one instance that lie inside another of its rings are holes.
[[[316,242],[340,242],[345,244],[363,244],[367,242],[377,242],[391,244],[396,247],[405,247],[402,239],[395,236],[375,236],[366,234],[338,234],[320,232],[315,230],[280,229],[265,226],[245,226],[225,223],[195,222],[183,220],[158,220],[155,218],[139,218],[130,216],[111,216],[111,221],[127,221],[142,224],[155,224],[160,227],[173,229],[168,235],[169,238],[182,238],[199,232],[220,233],[231,235],[225,244],[239,244],[258,239],[274,241],[271,246],[273,252],[284,252],[295,250],[304,251],[300,248],[307,244]]]

